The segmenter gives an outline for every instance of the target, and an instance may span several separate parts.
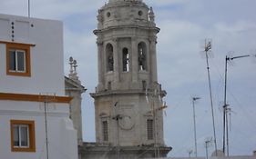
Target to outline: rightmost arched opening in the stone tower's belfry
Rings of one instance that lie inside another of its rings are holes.
[[[138,44],[138,70],[148,70],[147,68],[147,46],[145,43]]]

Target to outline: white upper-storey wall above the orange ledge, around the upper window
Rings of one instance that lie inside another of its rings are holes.
[[[5,45],[0,44],[0,92],[64,95],[62,22],[0,14],[0,41],[11,41],[12,22],[16,43],[36,45],[30,52],[31,77],[6,75]]]

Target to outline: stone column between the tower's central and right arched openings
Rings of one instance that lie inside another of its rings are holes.
[[[138,83],[138,41],[136,37],[131,37],[131,71],[132,83]]]

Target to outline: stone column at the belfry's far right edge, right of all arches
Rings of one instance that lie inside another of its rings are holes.
[[[152,82],[158,82],[158,67],[157,67],[157,38],[152,37],[149,39],[150,42],[150,71]]]

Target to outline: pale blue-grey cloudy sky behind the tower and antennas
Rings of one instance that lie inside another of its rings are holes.
[[[97,85],[97,45],[93,30],[97,9],[108,0],[31,0],[31,16],[64,22],[65,73],[68,57],[77,59],[78,74],[87,87],[83,95],[83,129],[86,142],[95,141],[94,104],[88,93]],[[196,104],[198,151],[213,136],[206,60],[200,52],[203,40],[212,39],[210,75],[218,148],[222,147],[222,104],[225,55],[255,54],[255,0],[144,0],[153,6],[158,35],[159,83],[168,92],[165,141],[173,147],[169,156],[188,156],[193,149],[192,104]],[[26,0],[1,0],[0,13],[27,15]],[[0,28],[1,29],[1,28]],[[254,51],[253,51],[254,50]],[[230,154],[251,155],[256,150],[256,63],[236,59],[228,66],[228,102],[231,107]],[[213,146],[210,146],[210,154]]]

